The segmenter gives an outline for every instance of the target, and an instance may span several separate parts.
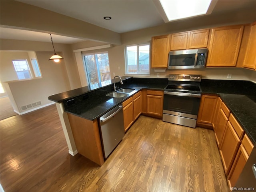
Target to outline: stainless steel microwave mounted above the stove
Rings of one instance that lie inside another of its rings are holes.
[[[208,49],[170,51],[168,69],[198,69],[206,64]]]

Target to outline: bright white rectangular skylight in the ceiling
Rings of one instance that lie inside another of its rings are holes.
[[[159,0],[169,21],[207,13],[211,0]]]

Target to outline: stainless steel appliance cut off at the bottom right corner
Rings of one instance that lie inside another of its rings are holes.
[[[256,191],[256,145],[232,191]]]

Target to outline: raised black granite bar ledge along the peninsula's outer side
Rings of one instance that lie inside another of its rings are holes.
[[[122,76],[121,78],[122,78],[122,81],[126,81],[126,80],[128,80],[130,78],[133,78],[133,77],[132,76]],[[118,81],[116,81],[116,82],[118,82]],[[93,91],[99,90],[101,88],[104,88],[106,86],[110,86],[112,84],[114,85],[113,80],[111,80],[111,84],[108,84],[108,85],[105,85],[105,86],[100,86],[99,88],[92,89],[92,90],[79,91],[76,94],[72,94],[72,93],[75,93],[78,90],[82,90],[82,89],[88,88],[88,86],[80,87],[80,88],[77,88],[77,89],[73,89],[73,90],[69,90],[69,91],[66,91],[66,92],[62,92],[62,93],[58,93],[58,94],[54,94],[54,95],[48,96],[48,100],[54,101],[56,103],[62,103],[64,100],[72,99],[72,98],[75,98],[75,97],[80,96],[82,94],[93,92]],[[67,97],[62,96],[62,95],[69,95],[69,94],[71,94],[71,96],[67,96]],[[53,99],[54,97],[59,97],[59,99]]]

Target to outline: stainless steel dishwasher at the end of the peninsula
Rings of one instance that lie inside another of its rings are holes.
[[[122,104],[100,117],[100,131],[104,157],[107,158],[124,137],[124,115]]]

